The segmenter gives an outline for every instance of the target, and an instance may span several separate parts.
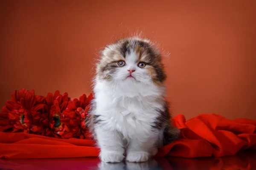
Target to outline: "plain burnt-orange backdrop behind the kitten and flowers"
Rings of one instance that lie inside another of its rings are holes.
[[[111,2],[111,3],[110,3]],[[256,1],[0,1],[0,107],[15,89],[91,92],[116,37],[160,42],[173,114],[256,119]]]

